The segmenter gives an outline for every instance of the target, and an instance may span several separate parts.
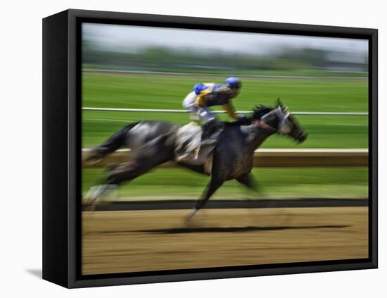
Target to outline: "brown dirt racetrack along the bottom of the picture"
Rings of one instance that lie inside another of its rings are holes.
[[[82,274],[360,259],[368,207],[83,212]]]

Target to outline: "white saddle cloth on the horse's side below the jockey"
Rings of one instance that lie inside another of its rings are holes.
[[[202,138],[202,128],[194,122],[179,128],[176,133],[175,160],[195,166],[204,165],[205,173],[212,168],[212,151],[222,134],[222,129]]]

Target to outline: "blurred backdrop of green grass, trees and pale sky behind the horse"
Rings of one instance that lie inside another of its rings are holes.
[[[239,75],[234,106],[251,111],[277,98],[296,112],[367,112],[368,42],[162,27],[82,23],[82,106],[183,109],[198,82]],[[230,120],[221,115],[223,120]],[[367,148],[367,116],[296,116],[305,143],[274,135],[262,148]],[[189,122],[189,113],[83,111],[82,147],[92,147],[138,120]],[[83,170],[82,188],[103,169]],[[367,168],[255,168],[258,194],[226,182],[213,199],[367,198]],[[120,187],[118,198],[197,199],[207,176],[185,169],[156,169]]]

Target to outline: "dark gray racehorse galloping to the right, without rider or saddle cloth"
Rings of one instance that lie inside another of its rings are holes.
[[[129,182],[161,163],[174,160],[176,132],[179,128],[181,126],[160,121],[131,123],[92,149],[87,161],[102,159],[120,147],[129,147],[131,151],[129,161],[108,168],[106,178],[89,199],[96,201],[112,186]],[[235,179],[247,187],[254,188],[250,174],[254,151],[274,133],[288,135],[297,142],[303,142],[307,137],[305,131],[280,102],[276,108],[256,107],[252,115],[245,120],[224,123],[224,130],[213,151],[210,182],[189,217],[203,208],[212,194],[227,180]],[[184,163],[179,165],[205,173],[204,166]]]

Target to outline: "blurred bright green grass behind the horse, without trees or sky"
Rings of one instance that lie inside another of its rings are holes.
[[[287,72],[288,73],[288,72]],[[323,73],[320,73],[323,74]],[[337,78],[337,76],[345,78]],[[82,77],[82,106],[103,108],[182,109],[182,100],[196,82],[222,82],[224,75],[111,74],[88,73]],[[277,97],[291,111],[364,112],[367,109],[367,79],[242,77],[243,88],[234,105],[250,111],[256,104],[273,106]],[[227,116],[220,118],[229,120]],[[296,116],[309,137],[303,144],[274,135],[262,148],[367,148],[367,116]],[[82,112],[82,147],[100,144],[126,123],[137,120],[189,122],[188,113]],[[88,190],[103,175],[103,169],[83,170],[82,189]],[[367,168],[255,168],[260,193],[252,194],[237,182],[226,182],[213,199],[262,198],[366,198]],[[156,169],[118,191],[119,200],[196,199],[208,177],[185,169]]]

